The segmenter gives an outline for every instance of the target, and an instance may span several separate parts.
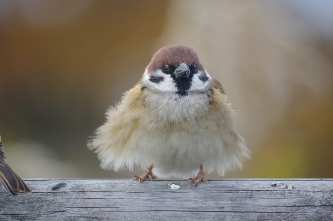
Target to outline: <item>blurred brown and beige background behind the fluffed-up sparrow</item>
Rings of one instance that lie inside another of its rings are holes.
[[[161,46],[224,86],[251,150],[226,178],[333,177],[333,1],[0,1],[0,134],[24,178],[131,178],[88,137]],[[211,174],[208,178],[218,178]]]

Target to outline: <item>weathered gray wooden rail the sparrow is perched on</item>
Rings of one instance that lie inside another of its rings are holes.
[[[333,179],[222,179],[196,187],[184,180],[25,180],[32,194],[11,196],[0,186],[0,220],[333,220]]]

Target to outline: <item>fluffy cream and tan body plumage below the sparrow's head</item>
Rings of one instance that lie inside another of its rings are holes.
[[[224,175],[248,157],[230,104],[217,89],[180,98],[142,89],[139,82],[107,111],[106,118],[90,146],[103,169],[154,164],[159,178],[188,178],[200,164],[207,173]]]

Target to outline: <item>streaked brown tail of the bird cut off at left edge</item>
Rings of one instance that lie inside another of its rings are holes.
[[[6,190],[17,195],[20,192],[31,193],[31,188],[5,162],[3,141],[0,136],[0,180]]]

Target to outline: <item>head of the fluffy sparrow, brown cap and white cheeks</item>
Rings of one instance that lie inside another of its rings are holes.
[[[212,79],[203,68],[197,53],[188,46],[170,45],[160,48],[147,66],[142,83],[157,93],[204,92]]]

